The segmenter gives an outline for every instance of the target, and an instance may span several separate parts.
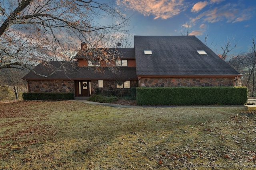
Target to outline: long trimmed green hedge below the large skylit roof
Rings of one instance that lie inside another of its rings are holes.
[[[138,105],[244,105],[246,87],[136,88]]]

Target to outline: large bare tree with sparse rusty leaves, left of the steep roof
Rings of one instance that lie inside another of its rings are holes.
[[[65,46],[86,41],[88,34],[125,32],[128,21],[111,4],[93,0],[1,0],[0,69],[32,70],[30,65],[49,57],[72,60],[63,57]]]

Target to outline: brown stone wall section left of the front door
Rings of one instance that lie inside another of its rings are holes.
[[[73,80],[29,80],[29,92],[75,92]]]

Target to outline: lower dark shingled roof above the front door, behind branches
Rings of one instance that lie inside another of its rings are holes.
[[[61,67],[60,67],[61,66]],[[59,68],[60,67],[60,68]],[[58,68],[58,69],[57,69]],[[46,75],[48,78],[38,76],[33,72],[29,72],[23,79],[71,79],[71,80],[91,80],[91,79],[138,79],[136,76],[136,67],[118,67],[121,72],[114,74],[107,67],[104,67],[103,73],[95,72],[94,70],[89,69],[88,67],[77,67],[77,62],[64,62],[64,61],[50,61],[47,64],[40,63],[34,70],[35,72]],[[50,75],[54,70],[54,74]],[[49,76],[50,75],[50,76]]]

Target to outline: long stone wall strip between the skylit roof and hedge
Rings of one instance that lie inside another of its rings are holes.
[[[142,87],[234,86],[234,78],[141,78]]]

